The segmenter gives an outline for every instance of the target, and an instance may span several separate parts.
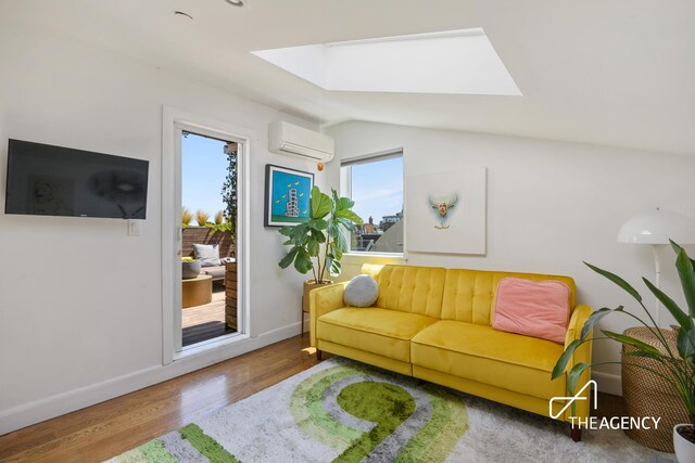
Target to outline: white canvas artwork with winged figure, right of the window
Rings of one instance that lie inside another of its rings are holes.
[[[406,179],[406,250],[485,254],[488,169]]]

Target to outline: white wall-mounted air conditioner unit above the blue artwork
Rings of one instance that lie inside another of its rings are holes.
[[[268,150],[328,163],[336,155],[333,139],[282,120],[268,126]]]

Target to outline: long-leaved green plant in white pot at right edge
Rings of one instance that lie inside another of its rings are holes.
[[[612,283],[626,291],[630,296],[632,296],[632,298],[637,301],[639,306],[646,313],[648,321],[626,310],[623,306],[619,306],[616,309],[603,308],[593,312],[586,320],[586,323],[584,323],[580,338],[567,346],[567,349],[565,349],[565,352],[563,352],[563,355],[558,359],[552,375],[553,378],[563,375],[565,369],[567,368],[567,363],[572,356],[572,352],[581,344],[586,342],[589,334],[604,317],[610,313],[621,313],[636,320],[654,334],[654,336],[658,339],[661,349],[657,349],[654,346],[650,346],[640,339],[624,334],[614,333],[607,330],[602,330],[602,333],[607,338],[617,340],[624,346],[631,347],[630,352],[626,352],[626,358],[641,357],[653,359],[654,361],[661,364],[668,372],[668,374],[657,372],[641,364],[629,363],[624,360],[624,358],[622,362],[602,362],[601,364],[624,362],[631,368],[636,366],[652,372],[653,374],[661,377],[668,385],[672,387],[672,390],[675,393],[684,410],[690,416],[690,423],[679,424],[674,427],[673,446],[675,448],[679,461],[692,462],[695,461],[695,323],[693,321],[693,319],[695,318],[695,260],[691,259],[685,250],[678,244],[671,242],[671,246],[677,254],[675,268],[680,276],[681,287],[683,290],[683,295],[685,296],[685,301],[687,304],[688,310],[684,311],[683,309],[681,309],[681,307],[679,307],[679,305],[671,297],[656,287],[647,279],[643,278],[642,280],[644,281],[644,284],[647,286],[649,292],[652,292],[652,294],[656,296],[656,298],[664,305],[664,307],[668,309],[668,311],[673,316],[678,323],[677,326],[673,326],[673,329],[677,331],[675,348],[673,348],[672,344],[667,342],[666,336],[664,336],[664,333],[661,332],[661,330],[659,330],[659,326],[657,326],[656,322],[652,318],[652,314],[644,306],[642,296],[634,287],[632,287],[620,276],[584,262],[592,270],[607,278]],[[570,394],[573,394],[574,387],[577,386],[577,382],[579,381],[581,373],[591,366],[593,365],[586,363],[578,363],[570,370],[567,377],[567,388]],[[682,454],[681,452],[690,453]]]

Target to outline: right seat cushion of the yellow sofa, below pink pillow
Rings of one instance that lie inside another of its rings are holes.
[[[412,362],[482,384],[549,399],[565,395],[565,381],[551,381],[563,346],[492,326],[438,321],[412,342]]]

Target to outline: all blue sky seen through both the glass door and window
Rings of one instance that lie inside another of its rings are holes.
[[[182,138],[181,205],[193,215],[198,209],[212,218],[225,209],[222,185],[227,178],[225,142],[190,133]],[[403,158],[352,166],[353,210],[366,222],[403,209]],[[258,203],[258,204],[262,204]]]

